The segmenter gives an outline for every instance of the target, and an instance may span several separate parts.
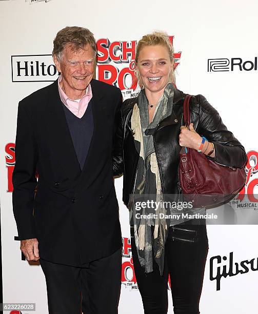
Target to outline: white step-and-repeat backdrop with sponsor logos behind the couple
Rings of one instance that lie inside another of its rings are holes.
[[[251,225],[256,223],[258,209],[255,202],[258,202],[255,198],[255,193],[258,194],[257,11],[258,3],[251,0],[0,1],[0,174],[5,303],[32,302],[36,303],[36,314],[48,312],[43,272],[39,266],[22,261],[19,242],[14,241],[17,234],[11,205],[11,175],[15,164],[17,104],[56,79],[51,57],[53,38],[63,27],[76,25],[89,28],[97,40],[100,57],[96,78],[120,87],[125,98],[137,94],[131,84],[136,42],[153,30],[166,31],[176,52],[177,87],[191,94],[204,94],[245,146],[247,184],[229,211],[237,224],[208,225],[210,248],[201,312],[257,312],[257,226]],[[119,313],[143,313],[131,262],[122,178],[115,180],[115,186],[124,238]],[[248,198],[254,201],[253,207],[244,207]],[[246,212],[239,213],[241,207]],[[173,313],[171,300],[169,313]]]

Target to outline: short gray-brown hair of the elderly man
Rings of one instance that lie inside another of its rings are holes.
[[[58,61],[61,60],[62,52],[66,45],[71,45],[74,51],[84,49],[89,45],[96,58],[97,48],[95,38],[90,30],[84,27],[67,26],[56,34],[54,39],[54,49],[52,55],[56,55]]]

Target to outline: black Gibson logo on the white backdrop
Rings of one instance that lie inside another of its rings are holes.
[[[227,263],[222,265],[222,260],[227,261]],[[215,276],[213,276],[213,270],[217,271]],[[220,255],[213,256],[210,259],[210,280],[216,280],[216,290],[221,289],[222,277],[227,278],[228,276],[236,276],[239,273],[247,273],[249,270],[258,270],[258,258],[251,259],[250,261],[244,260],[240,263],[233,263],[233,252],[230,252],[229,259],[226,256],[222,258]]]

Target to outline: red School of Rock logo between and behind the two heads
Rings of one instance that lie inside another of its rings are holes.
[[[169,36],[173,45],[174,36]],[[114,41],[108,38],[97,41],[96,78],[121,89],[124,99],[138,95],[135,70],[136,41]],[[174,69],[180,63],[181,52],[174,53]]]

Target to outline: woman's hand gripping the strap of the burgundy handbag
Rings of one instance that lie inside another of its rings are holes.
[[[195,132],[193,124],[190,123],[189,130],[186,126],[182,126],[180,129],[179,145],[198,150],[202,143],[202,137]]]

